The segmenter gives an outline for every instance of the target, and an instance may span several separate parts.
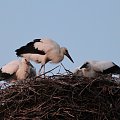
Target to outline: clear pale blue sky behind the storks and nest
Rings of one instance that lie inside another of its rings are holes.
[[[66,69],[87,60],[120,65],[120,0],[0,1],[0,66],[18,59],[17,48],[44,37],[68,48],[74,64],[65,57]]]

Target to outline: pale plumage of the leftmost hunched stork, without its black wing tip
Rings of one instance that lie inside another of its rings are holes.
[[[8,73],[8,74],[15,74],[14,77],[17,80],[24,80],[28,77],[29,74],[31,76],[36,75],[36,70],[33,66],[30,65],[28,61],[25,60],[25,58],[22,58],[21,60],[14,60],[6,64],[1,68],[2,73]]]

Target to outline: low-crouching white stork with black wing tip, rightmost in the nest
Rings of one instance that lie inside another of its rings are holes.
[[[101,74],[120,74],[120,67],[112,61],[87,61],[79,69],[76,69],[74,75],[95,77]]]

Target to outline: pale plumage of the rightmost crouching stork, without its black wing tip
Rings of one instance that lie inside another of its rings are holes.
[[[84,64],[86,65],[86,67],[76,68],[74,70],[74,75],[81,76],[82,72],[83,76],[85,77],[96,77],[99,73],[102,73],[104,70],[107,70],[115,66],[115,64],[112,61],[97,61],[97,60],[87,61]]]

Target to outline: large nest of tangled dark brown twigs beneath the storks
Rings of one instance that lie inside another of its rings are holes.
[[[21,81],[0,91],[0,120],[118,120],[120,85],[58,75]]]

